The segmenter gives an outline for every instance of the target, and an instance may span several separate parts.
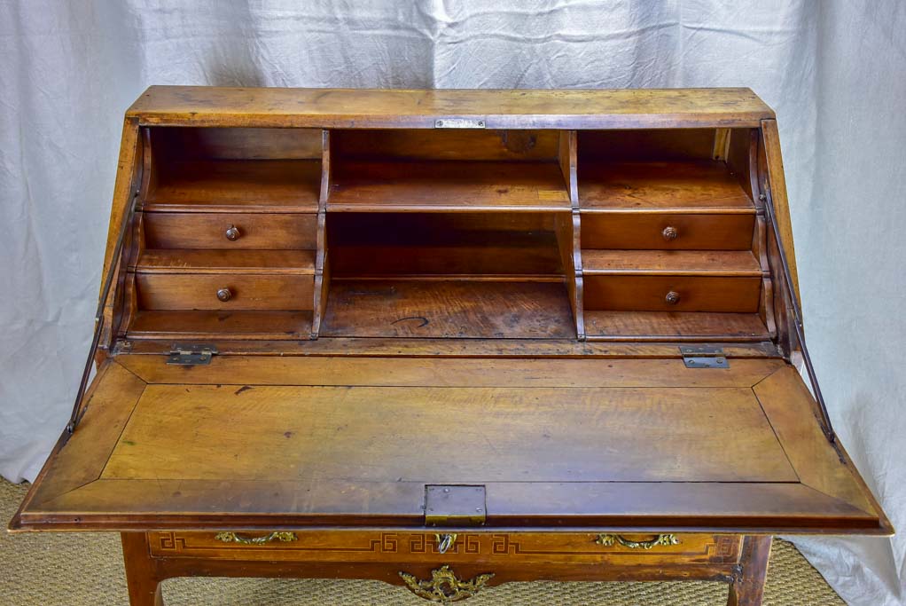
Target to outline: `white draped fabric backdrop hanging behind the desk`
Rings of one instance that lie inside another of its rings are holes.
[[[906,526],[906,3],[861,4],[0,0],[0,474],[34,479],[67,420],[149,84],[749,86],[778,115],[834,425]],[[797,542],[851,603],[903,603],[901,537]]]

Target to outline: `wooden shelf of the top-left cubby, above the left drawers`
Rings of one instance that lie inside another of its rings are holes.
[[[178,161],[161,166],[145,210],[316,212],[321,162]]]

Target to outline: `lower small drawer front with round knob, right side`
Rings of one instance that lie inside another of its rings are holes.
[[[760,294],[760,278],[584,277],[592,310],[755,312]]]

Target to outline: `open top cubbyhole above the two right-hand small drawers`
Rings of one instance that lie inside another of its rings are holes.
[[[726,129],[583,131],[578,133],[579,203],[583,209],[754,209],[747,166],[727,161]],[[736,148],[734,148],[736,149]]]

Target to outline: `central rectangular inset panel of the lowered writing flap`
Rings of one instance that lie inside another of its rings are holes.
[[[229,414],[207,414],[218,406]],[[656,424],[644,423],[653,417]],[[388,425],[391,419],[399,424]],[[632,439],[641,426],[645,439]],[[242,440],[222,439],[239,427]],[[728,439],[733,449],[715,456]],[[747,388],[148,386],[101,477],[796,481]]]

